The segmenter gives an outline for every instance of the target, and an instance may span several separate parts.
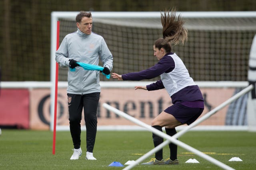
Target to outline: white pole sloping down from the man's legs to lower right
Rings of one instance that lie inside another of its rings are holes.
[[[212,162],[213,164],[216,164],[217,166],[225,169],[225,170],[234,170],[233,168],[231,168],[230,166],[227,166],[226,164],[223,164],[222,162],[208,156],[207,154],[204,154],[202,152],[200,152],[199,150],[196,150],[194,149],[193,147],[190,147],[189,145],[186,145],[185,143],[182,143],[181,141],[178,141],[177,139],[169,136],[169,135],[166,135],[165,133],[161,132],[161,131],[158,131],[157,129],[155,129],[154,127],[151,127],[150,125],[104,103],[102,105],[103,107],[105,107],[106,109],[110,110],[110,111],[113,111],[114,113],[116,113],[117,115],[120,115],[122,117],[124,117],[125,119],[128,119],[129,121],[132,121],[133,123],[136,123],[142,127],[145,127],[146,129],[148,129],[149,131],[151,131],[152,133],[155,133],[157,134],[158,136],[162,137],[162,138],[165,138],[167,140],[169,140],[170,142],[176,144],[176,145],[179,145],[180,147],[186,149],[186,150],[189,150],[190,152],[194,152],[196,155],[208,160],[209,162]],[[132,167],[136,166],[136,164],[131,164],[130,166],[127,166],[126,168],[124,168],[124,170],[130,170]]]

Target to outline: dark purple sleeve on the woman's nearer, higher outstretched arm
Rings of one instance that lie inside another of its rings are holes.
[[[174,66],[175,66],[175,63],[172,57],[164,56],[160,61],[158,61],[158,63],[156,63],[154,66],[146,70],[122,74],[122,79],[140,81],[140,80],[155,78],[157,76],[160,76],[166,71],[170,72],[171,70],[174,69]]]

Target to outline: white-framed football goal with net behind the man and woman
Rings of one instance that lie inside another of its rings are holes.
[[[52,12],[52,97],[55,92],[57,21],[60,21],[59,43],[61,43],[65,35],[77,30],[75,21],[77,14],[78,12]],[[248,85],[248,60],[252,39],[256,34],[256,12],[178,12],[178,14],[186,20],[188,41],[184,45],[174,46],[172,51],[184,61],[190,76],[202,89],[206,100],[206,113]],[[118,74],[137,72],[157,62],[153,56],[153,43],[162,37],[160,12],[92,12],[92,18],[92,31],[104,37],[114,57],[112,72]],[[67,72],[68,68],[58,68],[58,92],[64,95]],[[101,107],[104,102],[146,123],[166,106],[170,106],[170,97],[166,96],[165,91],[134,92],[133,90],[134,86],[154,82],[159,80],[159,77],[141,82],[117,82],[101,75],[100,80],[102,93],[98,107],[98,125],[104,127],[103,129],[108,127],[123,129],[125,126],[131,126],[122,118]],[[245,94],[235,104],[224,108],[222,115],[210,117],[203,125],[244,127],[247,125],[246,99]],[[58,106],[59,117],[68,114],[65,100],[63,99],[62,106]],[[52,106],[54,106],[53,101]],[[51,107],[51,115],[53,111]],[[68,125],[67,122],[63,122],[64,119],[59,122],[57,120],[57,127],[62,129],[62,126]]]

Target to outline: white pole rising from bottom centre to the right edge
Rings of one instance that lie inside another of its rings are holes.
[[[194,121],[193,123],[191,123],[190,125],[188,125],[187,127],[185,127],[184,129],[182,129],[181,131],[179,131],[178,133],[176,133],[175,135],[173,135],[172,137],[177,139],[178,137],[182,136],[184,133],[186,133],[189,129],[191,129],[192,127],[195,127],[196,125],[198,125],[199,123],[201,123],[202,121],[208,119],[211,115],[215,114],[217,111],[219,111],[220,109],[222,109],[223,107],[227,106],[228,104],[230,104],[231,102],[234,102],[234,100],[237,100],[239,97],[241,97],[242,95],[246,94],[247,92],[249,92],[250,90],[252,90],[254,87],[251,84],[250,86],[244,88],[243,90],[241,90],[240,92],[238,92],[237,94],[235,94],[234,96],[232,96],[231,98],[229,98],[228,100],[226,100],[225,102],[223,102],[222,104],[220,104],[219,106],[215,107],[214,109],[212,109],[211,111],[209,111],[208,113],[206,113],[204,116],[200,117],[199,119],[197,119],[196,121]],[[140,158],[138,158],[134,164],[139,164],[140,162],[142,162],[144,159],[148,158],[148,156],[154,154],[155,152],[157,152],[158,150],[162,149],[165,145],[168,145],[170,143],[170,141],[164,141],[163,143],[161,143],[160,145],[158,145],[157,147],[155,147],[154,149],[150,150],[149,152],[147,152],[146,154],[144,154],[143,156],[141,156]],[[129,165],[130,166],[130,165]]]

